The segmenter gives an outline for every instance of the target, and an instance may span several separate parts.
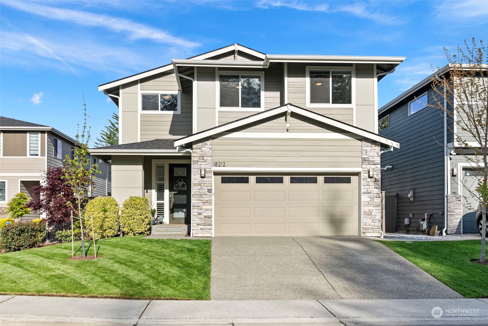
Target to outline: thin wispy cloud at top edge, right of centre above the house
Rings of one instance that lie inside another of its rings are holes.
[[[359,18],[374,20],[379,24],[386,24],[386,25],[404,23],[404,21],[399,19],[397,16],[387,15],[387,14],[383,14],[371,10],[364,2],[331,6],[326,2],[318,2],[318,1],[262,0],[256,2],[255,5],[256,7],[263,8],[263,9],[288,7],[297,10],[316,11],[316,12],[328,12],[328,13],[344,12]]]

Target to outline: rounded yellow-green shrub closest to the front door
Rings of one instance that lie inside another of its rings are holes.
[[[122,204],[121,230],[123,235],[149,234],[151,207],[147,198],[130,196]]]

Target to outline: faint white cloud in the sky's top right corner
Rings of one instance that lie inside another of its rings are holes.
[[[436,7],[438,16],[446,17],[448,15],[450,19],[481,18],[486,22],[488,16],[488,1],[486,0],[443,1]],[[466,20],[466,22],[470,21]],[[476,20],[475,23],[479,24],[480,21]]]

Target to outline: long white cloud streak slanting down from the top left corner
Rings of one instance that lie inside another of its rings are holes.
[[[129,38],[133,40],[146,39],[171,45],[178,45],[185,48],[192,48],[200,45],[197,42],[187,41],[183,38],[172,36],[161,29],[153,28],[151,26],[124,18],[99,15],[88,11],[50,7],[33,2],[7,1],[3,3],[33,15],[38,15],[53,20],[63,20],[80,25],[102,27],[117,33],[124,32],[127,33]]]

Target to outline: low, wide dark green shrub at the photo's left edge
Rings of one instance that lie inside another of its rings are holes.
[[[0,249],[10,252],[34,248],[42,244],[45,235],[46,225],[43,223],[10,224],[0,231]]]

